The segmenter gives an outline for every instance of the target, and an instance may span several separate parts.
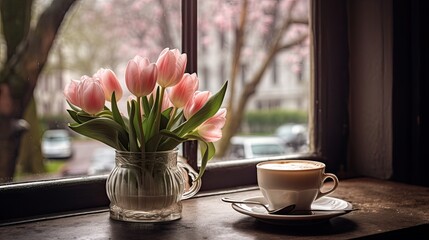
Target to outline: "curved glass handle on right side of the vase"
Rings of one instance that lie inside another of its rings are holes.
[[[183,173],[185,179],[185,191],[182,195],[182,199],[188,199],[197,194],[201,188],[201,178],[195,181],[198,177],[198,173],[186,162],[185,158],[177,158],[177,166]]]

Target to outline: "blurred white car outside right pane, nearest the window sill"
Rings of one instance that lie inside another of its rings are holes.
[[[234,136],[227,153],[227,159],[249,159],[264,156],[275,156],[286,153],[278,137]]]

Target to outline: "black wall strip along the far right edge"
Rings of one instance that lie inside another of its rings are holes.
[[[393,180],[429,186],[429,4],[393,1]]]

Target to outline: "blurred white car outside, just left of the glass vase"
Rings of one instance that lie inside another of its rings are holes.
[[[96,148],[91,157],[88,175],[108,174],[115,167],[115,149],[111,147]]]

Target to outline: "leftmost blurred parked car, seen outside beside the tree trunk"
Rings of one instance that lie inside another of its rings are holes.
[[[70,134],[65,129],[46,130],[42,136],[42,154],[48,159],[67,159],[73,155]]]

